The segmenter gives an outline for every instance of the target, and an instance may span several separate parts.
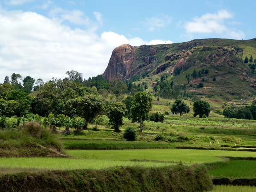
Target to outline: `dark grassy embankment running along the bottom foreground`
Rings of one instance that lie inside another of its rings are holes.
[[[191,192],[211,190],[205,166],[115,167],[107,170],[47,171],[0,175],[1,192]]]

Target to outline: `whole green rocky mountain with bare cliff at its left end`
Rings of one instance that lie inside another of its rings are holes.
[[[245,57],[253,61],[244,63]],[[144,82],[149,88],[164,76],[178,84],[189,81],[190,91],[252,97],[256,95],[254,58],[256,39],[195,39],[139,47],[124,44],[113,50],[102,76],[109,81],[121,78]],[[194,71],[197,76],[193,77]],[[204,84],[203,88],[196,88],[199,83]]]

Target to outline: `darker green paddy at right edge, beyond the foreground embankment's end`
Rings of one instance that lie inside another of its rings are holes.
[[[256,161],[253,161],[253,160],[227,161],[224,166],[210,169],[209,173],[213,177],[255,178],[256,177]]]

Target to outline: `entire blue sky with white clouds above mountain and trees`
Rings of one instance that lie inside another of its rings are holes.
[[[255,0],[0,0],[0,83],[102,74],[112,51],[201,38],[256,38]]]

